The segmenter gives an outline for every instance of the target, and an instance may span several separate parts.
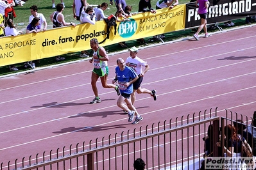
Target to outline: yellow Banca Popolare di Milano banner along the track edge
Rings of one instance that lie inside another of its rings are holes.
[[[164,8],[157,13],[138,13],[130,21],[117,22],[117,33],[111,29],[110,38],[102,46],[118,42],[136,40],[148,36],[178,31],[185,27],[185,4],[172,10]],[[90,49],[90,39],[99,42],[107,36],[105,21],[91,24],[78,24],[76,27],[60,27],[40,33],[0,38],[0,66],[12,65],[49,58],[61,54]]]

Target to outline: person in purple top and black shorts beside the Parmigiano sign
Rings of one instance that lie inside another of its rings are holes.
[[[198,7],[199,4],[199,7]],[[207,33],[207,13],[208,13],[208,7],[209,7],[209,1],[208,0],[196,0],[196,7],[198,7],[198,14],[201,17],[201,25],[198,27],[198,31],[193,35],[196,40],[199,40],[198,34],[203,29],[205,31],[205,38],[210,37],[209,33]]]

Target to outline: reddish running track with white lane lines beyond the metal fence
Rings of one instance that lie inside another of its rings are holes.
[[[0,162],[42,154],[115,132],[145,127],[193,112],[218,107],[252,116],[256,107],[255,27],[139,50],[148,61],[143,88],[157,89],[157,102],[137,95],[144,120],[128,123],[113,89],[98,82],[101,103],[90,86],[89,61],[0,79]],[[116,59],[110,56],[108,82]],[[203,144],[203,143],[202,143]]]

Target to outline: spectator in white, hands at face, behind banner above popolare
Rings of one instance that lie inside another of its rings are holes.
[[[81,12],[80,22],[95,25],[96,17],[95,17],[94,10],[93,10],[92,6],[88,6],[86,8],[86,10],[83,10],[83,12]],[[89,52],[87,52],[86,50],[83,50],[83,51],[81,51],[80,57],[88,58],[89,54],[90,54]]]

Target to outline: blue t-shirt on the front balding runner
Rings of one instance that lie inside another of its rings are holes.
[[[135,77],[137,77],[137,74],[130,68],[129,66],[125,66],[124,70],[121,71],[120,68],[117,66],[115,68],[115,73],[117,75],[118,85],[121,94],[132,94],[133,92],[133,86],[130,84],[127,88],[124,86],[126,82],[132,81]]]

